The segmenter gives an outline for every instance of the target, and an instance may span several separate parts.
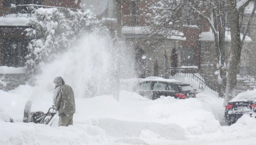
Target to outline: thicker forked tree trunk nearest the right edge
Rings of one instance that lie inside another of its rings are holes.
[[[242,39],[240,38],[240,26],[243,20],[240,20],[244,7],[248,5],[249,2],[254,1],[254,7],[250,18],[246,24],[245,31],[243,32]],[[227,84],[226,84],[226,95],[224,100],[224,105],[227,104],[229,100],[235,95],[235,85],[236,85],[236,74],[238,71],[238,66],[240,62],[242,45],[247,34],[248,27],[250,25],[251,19],[255,12],[255,0],[228,0],[228,17],[230,21],[230,31],[231,31],[231,51],[228,62],[227,71]]]

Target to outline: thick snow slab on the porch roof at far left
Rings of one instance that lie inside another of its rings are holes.
[[[28,22],[27,17],[0,17],[0,25],[26,25]]]

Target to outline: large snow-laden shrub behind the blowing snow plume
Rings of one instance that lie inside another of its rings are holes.
[[[28,23],[30,28],[26,29],[27,36],[32,39],[26,57],[28,72],[34,74],[40,62],[47,60],[51,54],[70,48],[80,30],[95,24],[99,24],[99,21],[90,11],[37,9],[35,17]]]

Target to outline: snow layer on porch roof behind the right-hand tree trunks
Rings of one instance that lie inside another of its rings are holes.
[[[240,38],[242,39],[242,34],[240,34]],[[211,31],[204,31],[200,33],[199,35],[200,41],[214,41],[214,34]],[[226,32],[225,34],[225,41],[230,42],[231,41],[231,35],[230,32]],[[251,38],[249,36],[245,36],[244,42],[251,42]]]

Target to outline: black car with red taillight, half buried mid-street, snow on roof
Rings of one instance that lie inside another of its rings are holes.
[[[195,91],[190,84],[164,78],[140,82],[135,91],[151,99],[157,99],[160,96],[173,96],[179,99],[196,97]]]

